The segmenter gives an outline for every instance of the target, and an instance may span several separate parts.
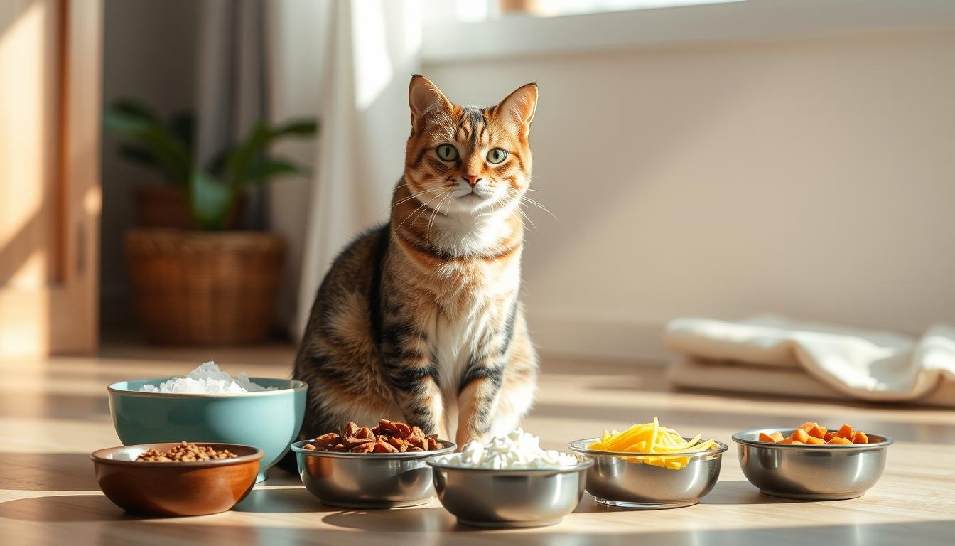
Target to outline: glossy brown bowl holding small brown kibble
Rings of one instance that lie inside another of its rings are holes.
[[[90,454],[99,489],[129,513],[149,515],[202,515],[220,513],[239,503],[255,485],[260,448],[239,444],[196,442],[217,451],[228,449],[234,459],[169,463],[143,463],[139,453],[154,448],[165,451],[173,444],[139,444],[105,448]]]

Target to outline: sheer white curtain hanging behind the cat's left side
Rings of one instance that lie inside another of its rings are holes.
[[[417,0],[274,0],[266,15],[270,116],[321,123],[313,147],[281,150],[313,160],[311,180],[274,185],[270,200],[272,229],[291,250],[280,313],[298,338],[335,255],[387,219],[410,128],[421,15]]]

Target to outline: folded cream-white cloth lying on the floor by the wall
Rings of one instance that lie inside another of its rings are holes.
[[[913,339],[772,315],[677,318],[664,343],[688,357],[670,368],[670,380],[682,386],[955,405],[955,325],[937,324]]]

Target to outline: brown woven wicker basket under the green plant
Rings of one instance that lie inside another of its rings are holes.
[[[219,345],[267,338],[286,251],[281,237],[133,229],[125,248],[148,341]]]

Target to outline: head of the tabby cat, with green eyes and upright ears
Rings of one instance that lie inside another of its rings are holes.
[[[527,138],[537,84],[490,108],[454,104],[427,77],[412,77],[412,135],[405,184],[442,213],[490,211],[520,202],[531,181]]]

